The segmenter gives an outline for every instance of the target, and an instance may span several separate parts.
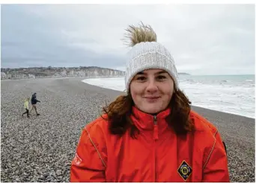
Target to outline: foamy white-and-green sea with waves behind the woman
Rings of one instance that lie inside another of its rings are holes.
[[[121,92],[124,77],[88,78],[91,85]],[[179,75],[180,89],[193,106],[255,118],[255,75]]]

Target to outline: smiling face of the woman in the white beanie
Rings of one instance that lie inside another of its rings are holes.
[[[148,114],[165,110],[174,92],[174,81],[162,69],[147,69],[133,77],[130,92],[135,107]]]

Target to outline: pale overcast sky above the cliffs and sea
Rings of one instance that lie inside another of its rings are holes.
[[[140,21],[152,26],[178,72],[255,74],[254,4],[4,4],[1,67],[124,71],[124,29]]]

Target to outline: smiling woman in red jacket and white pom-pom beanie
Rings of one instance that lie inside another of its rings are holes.
[[[85,125],[70,182],[230,182],[217,128],[191,110],[170,52],[150,25],[130,25],[126,95]]]

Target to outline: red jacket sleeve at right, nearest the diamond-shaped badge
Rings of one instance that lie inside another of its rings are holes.
[[[203,181],[207,183],[228,183],[228,156],[219,133],[216,133],[216,142],[210,150],[210,155],[204,165]]]

